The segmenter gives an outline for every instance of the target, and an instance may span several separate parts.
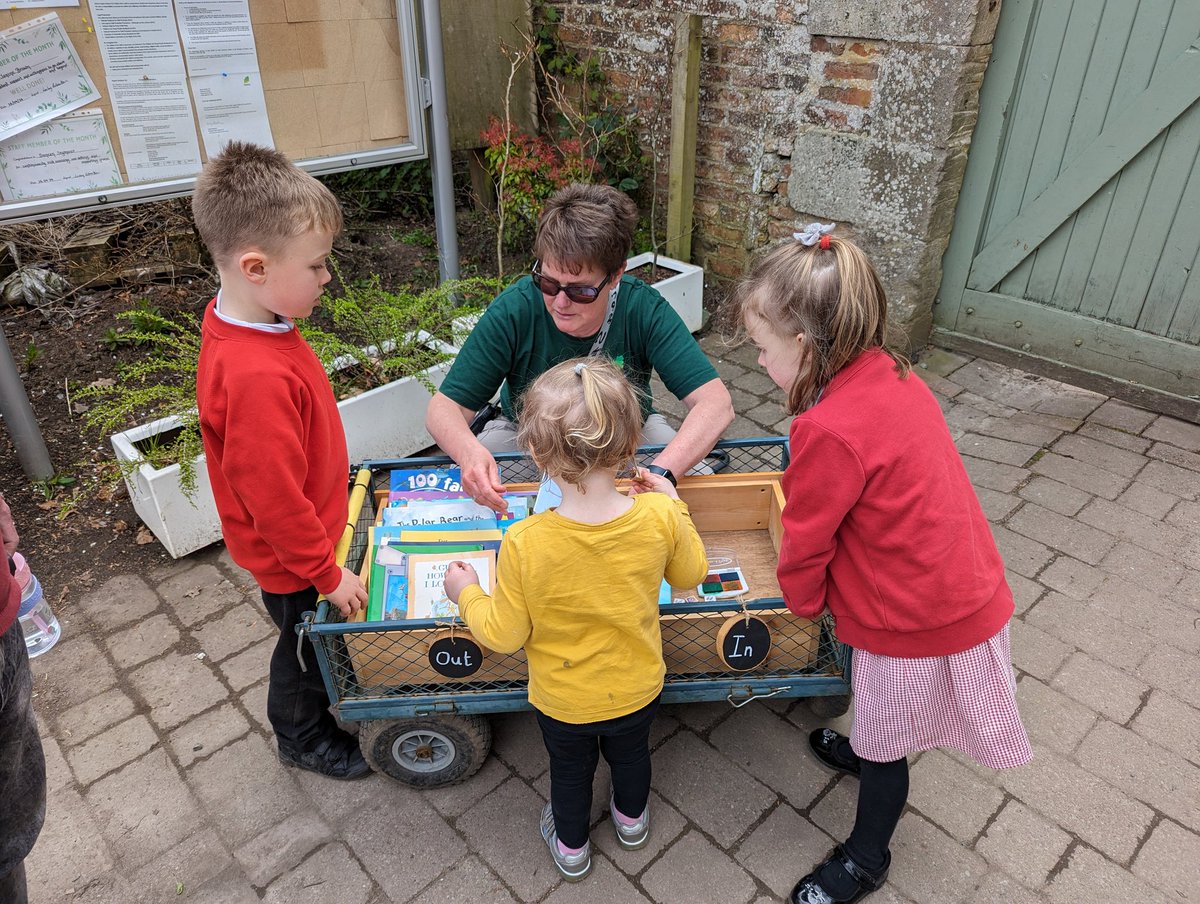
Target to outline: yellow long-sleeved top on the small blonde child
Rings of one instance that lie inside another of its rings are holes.
[[[496,594],[472,585],[458,612],[475,639],[499,653],[524,647],[529,702],[569,723],[602,722],[641,710],[662,690],[659,587],[695,587],[704,544],[688,507],[638,493],[601,525],[554,510],[509,528]]]

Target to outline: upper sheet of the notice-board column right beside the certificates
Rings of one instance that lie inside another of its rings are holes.
[[[91,19],[109,83],[184,74],[170,0],[91,0]]]

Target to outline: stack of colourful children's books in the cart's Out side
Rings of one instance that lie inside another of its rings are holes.
[[[456,616],[444,586],[455,561],[472,564],[491,593],[504,531],[533,503],[524,493],[504,498],[504,515],[475,503],[462,489],[458,468],[391,472],[388,504],[368,537],[366,621]]]

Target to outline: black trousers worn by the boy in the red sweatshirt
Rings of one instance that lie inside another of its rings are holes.
[[[301,616],[316,611],[317,588],[295,593],[263,591],[263,603],[280,629],[271,653],[266,718],[281,746],[295,752],[311,750],[337,730],[337,722],[329,712],[329,694],[317,665],[317,653],[307,639],[299,643],[295,631]],[[298,643],[307,671],[300,667],[296,658]]]

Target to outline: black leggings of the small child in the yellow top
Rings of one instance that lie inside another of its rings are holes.
[[[558,839],[568,848],[588,840],[592,814],[592,779],[600,754],[612,772],[617,809],[640,816],[650,797],[650,725],[659,700],[628,716],[604,722],[572,724],[538,713],[541,738],[550,754],[550,804],[554,810]]]

